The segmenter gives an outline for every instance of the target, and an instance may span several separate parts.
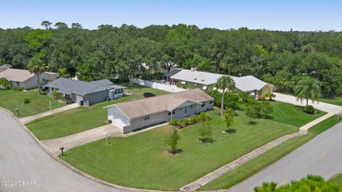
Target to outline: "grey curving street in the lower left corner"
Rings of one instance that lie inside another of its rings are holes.
[[[121,191],[92,181],[58,163],[33,141],[10,113],[2,109],[0,136],[0,191]],[[16,182],[16,186],[4,186],[9,184],[8,181]],[[22,181],[31,186],[23,186]]]

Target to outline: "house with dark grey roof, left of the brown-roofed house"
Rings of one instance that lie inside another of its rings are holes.
[[[90,106],[106,101],[108,98],[114,99],[123,96],[126,87],[116,86],[107,79],[86,82],[59,78],[46,84],[44,88],[47,89],[49,94],[56,90],[68,101]]]

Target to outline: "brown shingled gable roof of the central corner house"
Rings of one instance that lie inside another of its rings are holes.
[[[172,111],[187,101],[192,103],[202,103],[204,101],[212,100],[213,98],[204,93],[204,91],[200,89],[191,89],[174,94],[153,96],[125,103],[117,103],[111,106],[120,108],[128,118],[133,119],[154,113],[160,113],[162,111]],[[106,106],[105,108],[111,106]]]

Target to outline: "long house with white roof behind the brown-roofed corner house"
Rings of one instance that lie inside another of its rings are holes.
[[[165,78],[170,84],[175,84],[183,89],[202,89],[204,91],[217,90],[217,79],[222,74],[212,74],[204,71],[197,71],[196,68],[174,69],[170,73],[165,74]],[[254,76],[231,76],[235,82],[235,91],[247,91],[256,98],[258,96],[266,96],[267,93],[273,91],[274,86],[268,84]]]

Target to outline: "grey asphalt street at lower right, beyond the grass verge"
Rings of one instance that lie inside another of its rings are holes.
[[[342,123],[329,128],[276,163],[230,188],[229,192],[252,192],[264,181],[279,184],[298,180],[307,174],[328,179],[342,171]]]

